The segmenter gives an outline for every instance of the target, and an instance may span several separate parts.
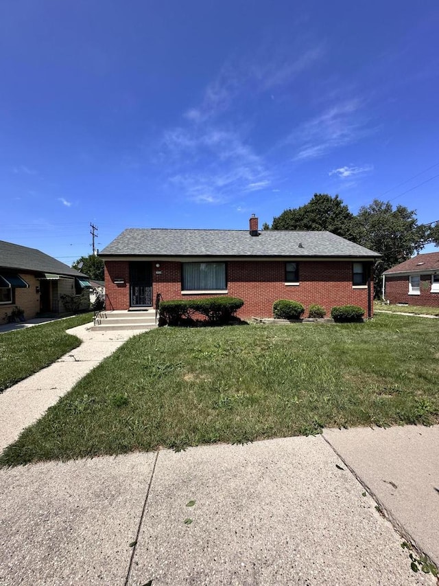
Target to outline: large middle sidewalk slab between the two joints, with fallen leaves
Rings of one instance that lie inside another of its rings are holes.
[[[337,464],[321,436],[160,451],[128,584],[435,584]]]

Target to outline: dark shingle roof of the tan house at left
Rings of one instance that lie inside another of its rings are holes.
[[[0,240],[0,271],[1,269],[29,271],[31,273],[56,273],[72,277],[86,276],[36,248],[27,248],[4,242],[4,240]]]

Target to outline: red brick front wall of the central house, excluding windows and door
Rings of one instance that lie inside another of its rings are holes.
[[[158,268],[156,262],[152,262],[153,300],[157,293],[161,293],[164,300],[200,297],[181,294],[180,262],[157,262],[160,263]],[[107,309],[128,309],[129,262],[106,261],[105,264]],[[240,317],[271,317],[273,302],[278,299],[299,301],[305,306],[305,315],[311,304],[322,305],[327,315],[335,305],[359,305],[367,315],[368,290],[353,289],[352,270],[351,261],[302,261],[299,263],[300,284],[287,286],[283,261],[230,261],[227,262],[227,290],[228,295],[244,299]],[[125,278],[126,284],[118,286],[112,282],[117,277]],[[373,299],[373,282],[371,296]]]

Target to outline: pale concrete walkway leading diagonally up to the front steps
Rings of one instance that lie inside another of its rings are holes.
[[[0,451],[14,442],[25,427],[40,418],[51,405],[55,405],[60,396],[69,392],[87,372],[112,354],[124,341],[141,333],[140,330],[92,332],[89,329],[91,325],[85,324],[67,330],[69,334],[82,339],[78,348],[0,394]]]

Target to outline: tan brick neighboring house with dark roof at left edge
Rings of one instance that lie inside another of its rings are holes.
[[[44,252],[0,240],[0,324],[8,322],[17,306],[26,319],[37,313],[67,313],[61,295],[79,297],[89,286],[87,279]],[[88,306],[84,295],[81,308]]]

